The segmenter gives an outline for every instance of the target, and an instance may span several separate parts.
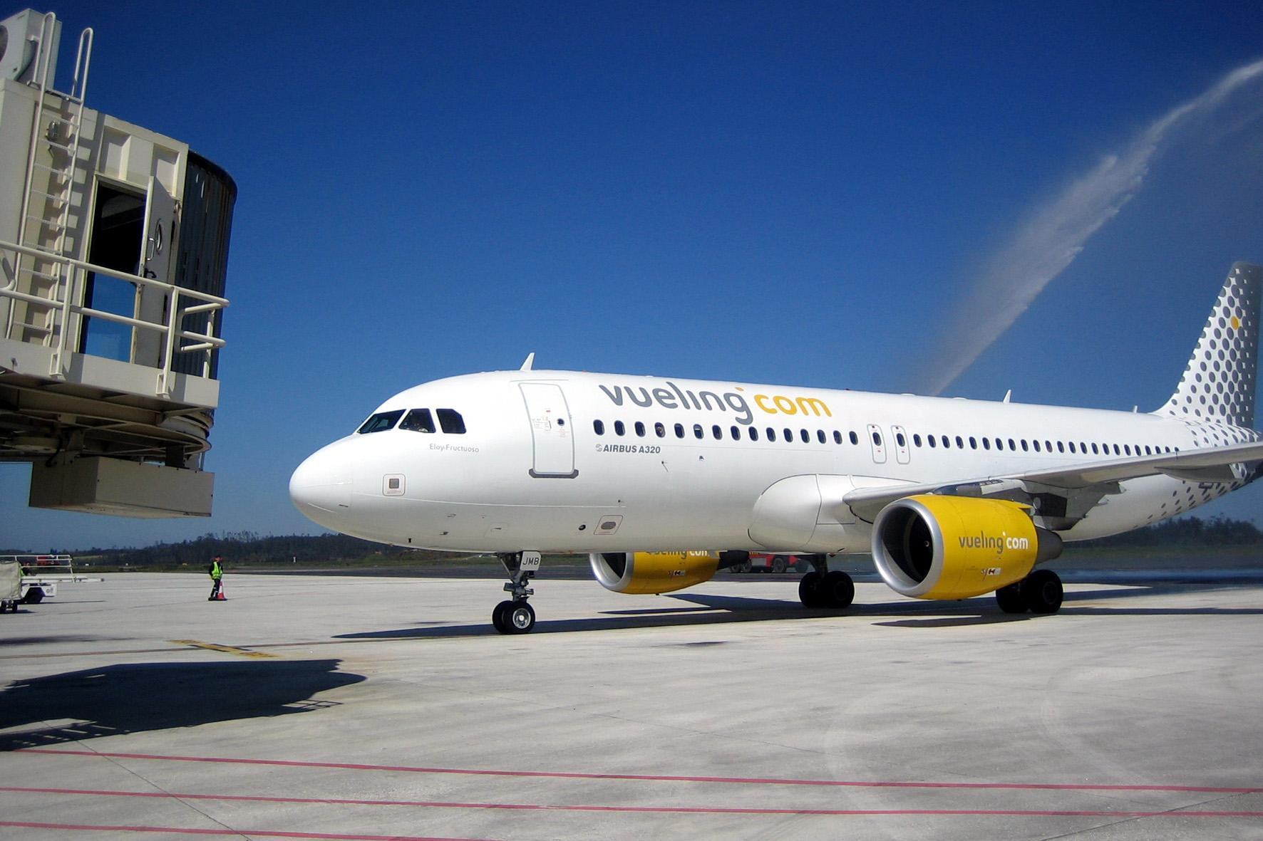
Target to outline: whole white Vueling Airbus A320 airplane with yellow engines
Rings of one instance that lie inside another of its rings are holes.
[[[1171,399],[1140,414],[787,385],[533,370],[392,397],[289,480],[316,523],[403,547],[496,553],[493,624],[534,626],[541,553],[589,553],[616,592],[710,580],[749,552],[810,556],[808,607],[854,585],[827,553],[871,552],[918,599],[995,592],[1055,612],[1036,564],[1063,540],[1127,532],[1259,475],[1263,269],[1233,265]]]

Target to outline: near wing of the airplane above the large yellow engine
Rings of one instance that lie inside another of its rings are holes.
[[[914,494],[997,496],[1032,504],[1036,515],[1048,520],[1050,528],[1060,529],[1082,519],[1101,498],[1119,492],[1118,482],[1127,479],[1166,475],[1195,482],[1249,481],[1254,475],[1248,465],[1259,461],[1263,461],[1263,442],[1250,442],[964,481],[859,487],[845,494],[842,503],[858,518],[871,523],[883,508]]]

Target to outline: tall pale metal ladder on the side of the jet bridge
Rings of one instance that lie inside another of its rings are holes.
[[[18,229],[19,245],[42,251],[48,256],[18,254],[13,274],[14,287],[20,287],[21,278],[25,275],[28,293],[45,299],[47,303],[28,303],[25,321],[14,323],[15,302],[10,301],[9,323],[11,325],[10,338],[56,347],[49,374],[61,376],[67,317],[75,297],[72,280],[76,269],[68,259],[85,259],[85,255],[80,254],[82,250],[81,237],[77,237],[71,230],[71,215],[72,212],[78,215],[76,221],[82,231],[88,186],[83,186],[83,189],[80,191],[80,201],[76,202],[75,179],[81,169],[83,100],[87,92],[88,66],[92,59],[93,32],[88,28],[80,34],[78,53],[75,57],[75,76],[67,93],[54,90],[49,83],[49,76],[54,76],[57,68],[51,66],[51,54],[45,45],[48,39],[53,37],[56,24],[57,16],[48,13],[40,27],[35,64],[38,80],[35,87],[39,93],[30,126],[27,182],[23,189],[21,220]],[[53,98],[54,104],[49,104],[49,98]],[[49,153],[49,163],[47,164],[39,160],[39,150],[45,146]],[[40,176],[39,178],[37,178],[37,173]],[[44,177],[47,177],[47,182]],[[37,183],[45,188],[42,189]],[[35,213],[34,206],[42,206],[43,212]]]

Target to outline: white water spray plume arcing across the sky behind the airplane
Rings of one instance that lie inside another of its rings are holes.
[[[1234,69],[1200,96],[1152,122],[1123,152],[1072,181],[1051,202],[1037,207],[1013,239],[986,260],[981,275],[956,308],[956,317],[949,321],[964,323],[961,313],[973,313],[970,330],[943,333],[938,352],[931,356],[938,362],[923,373],[918,390],[941,394],[1026,312],[1048,282],[1079,256],[1087,239],[1135,196],[1154,154],[1175,128],[1192,115],[1219,107],[1259,77],[1263,77],[1263,59]],[[988,316],[979,321],[978,313]]]

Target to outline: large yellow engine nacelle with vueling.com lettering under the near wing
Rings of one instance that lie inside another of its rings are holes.
[[[1008,500],[906,496],[873,523],[873,561],[895,592],[967,599],[1022,581],[1061,554],[1061,538]]]

